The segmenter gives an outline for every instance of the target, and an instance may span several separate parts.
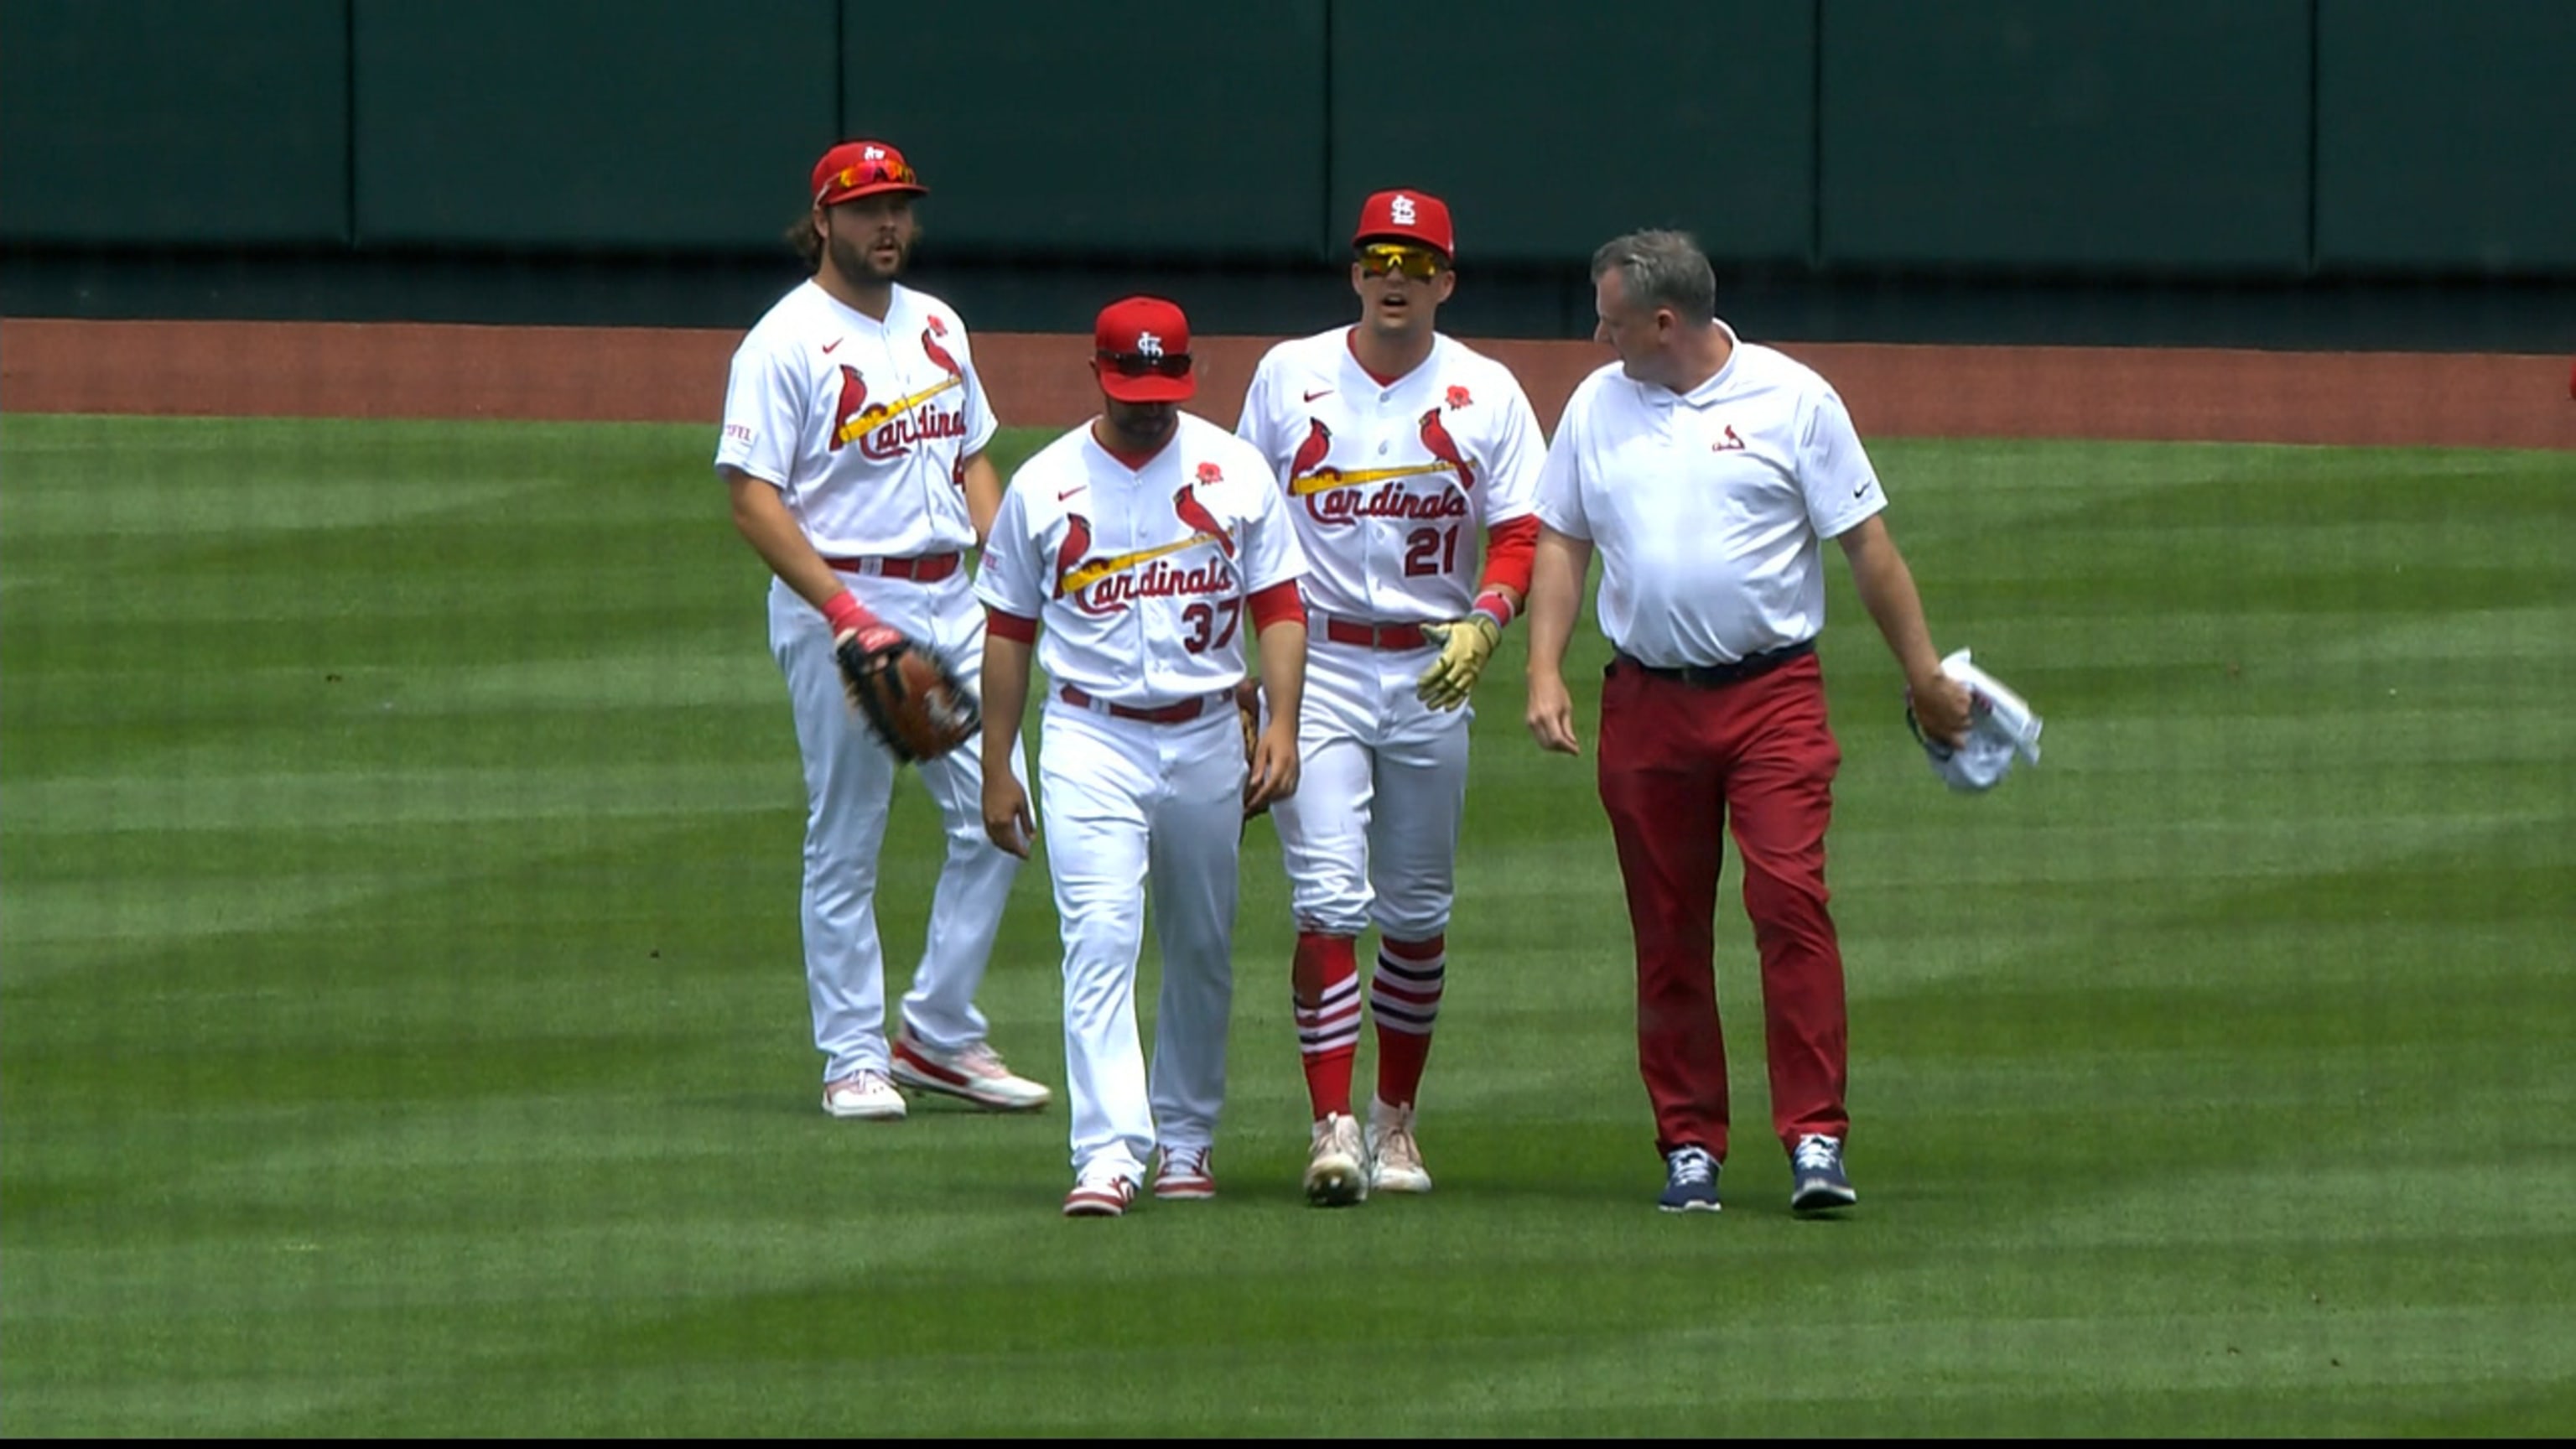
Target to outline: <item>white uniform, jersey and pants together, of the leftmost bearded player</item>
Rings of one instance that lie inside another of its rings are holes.
[[[814,552],[917,557],[974,544],[961,462],[994,433],[966,327],[933,297],[891,289],[886,320],[853,312],[806,281],[734,351],[716,467],[778,487]],[[912,583],[842,572],[886,624],[945,657],[969,686],[984,668],[984,611],[961,572]],[[770,580],[770,652],[788,683],[806,779],[804,957],[824,1080],[891,1065],[876,871],[894,786],[907,773],[850,714],[832,627],[786,580]],[[984,761],[984,740],[914,771],[940,807],[951,851],[902,1024],[935,1049],[984,1039],[974,1006],[1010,902],[1018,859],[979,841],[984,768],[1025,776],[1018,743]]]

